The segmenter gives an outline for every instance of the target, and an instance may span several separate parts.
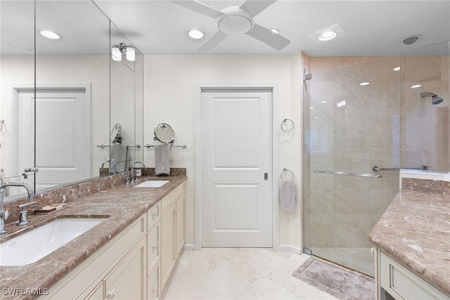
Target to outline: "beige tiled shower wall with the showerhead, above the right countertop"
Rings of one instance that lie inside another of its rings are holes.
[[[405,56],[401,67],[401,164],[449,171],[449,56]],[[421,86],[411,89],[413,84]],[[432,105],[423,92],[444,101]]]

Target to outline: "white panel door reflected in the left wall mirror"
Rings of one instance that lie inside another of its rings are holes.
[[[34,93],[19,91],[18,99],[19,107],[30,106],[25,111],[34,108]],[[38,89],[35,105],[36,189],[91,177],[91,103],[86,89]],[[19,149],[34,141],[27,134],[18,138]],[[18,159],[19,171],[24,158]]]

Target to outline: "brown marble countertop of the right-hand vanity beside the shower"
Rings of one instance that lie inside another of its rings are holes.
[[[450,196],[401,190],[369,240],[450,295]]]

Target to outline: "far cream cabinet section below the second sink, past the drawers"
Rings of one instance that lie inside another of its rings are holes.
[[[185,240],[185,184],[162,199],[161,289],[164,289]]]

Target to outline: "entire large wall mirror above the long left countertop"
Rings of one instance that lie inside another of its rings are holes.
[[[139,50],[133,46],[134,60],[112,59],[112,46],[132,43],[90,0],[0,4],[2,183],[27,182],[41,193],[98,178],[102,166],[102,175],[126,171],[142,156]],[[115,124],[120,144],[111,138]],[[8,188],[6,199],[19,192]]]

